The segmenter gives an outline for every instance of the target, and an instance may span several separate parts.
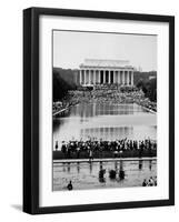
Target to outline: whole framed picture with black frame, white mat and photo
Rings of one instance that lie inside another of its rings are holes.
[[[173,205],[175,17],[23,16],[23,211]]]

